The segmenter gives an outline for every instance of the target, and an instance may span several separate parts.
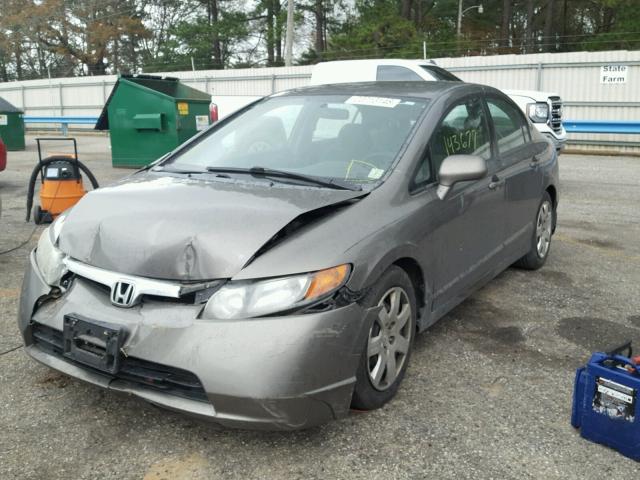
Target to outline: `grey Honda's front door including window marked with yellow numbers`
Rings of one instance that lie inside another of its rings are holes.
[[[429,258],[426,268],[433,282],[434,318],[492,274],[492,260],[502,249],[504,188],[492,183],[499,164],[491,139],[481,95],[455,102],[433,131],[414,179],[415,186],[425,179],[437,183],[440,165],[455,154],[481,156],[489,169],[483,179],[454,185],[444,200],[432,200],[425,212],[430,232],[421,247]]]

